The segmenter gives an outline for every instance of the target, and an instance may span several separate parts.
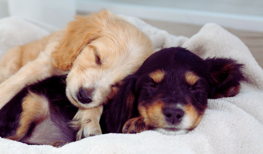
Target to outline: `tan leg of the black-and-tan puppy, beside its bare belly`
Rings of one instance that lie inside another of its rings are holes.
[[[46,97],[29,92],[22,102],[22,113],[16,134],[7,139],[19,141],[33,124],[43,121],[49,115],[49,102]]]

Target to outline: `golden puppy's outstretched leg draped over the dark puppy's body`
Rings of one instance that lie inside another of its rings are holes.
[[[50,44],[37,59],[28,62],[16,74],[0,84],[0,109],[26,85],[58,74],[59,70],[50,59],[50,53],[56,44]]]

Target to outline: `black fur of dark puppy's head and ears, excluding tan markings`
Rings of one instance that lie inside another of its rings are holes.
[[[166,106],[177,103],[184,105],[186,98],[190,98],[201,115],[207,107],[207,99],[215,98],[217,93],[225,94],[231,86],[239,85],[239,81],[244,78],[241,67],[242,64],[230,58],[204,60],[185,48],[162,49],[152,54],[138,71],[123,80],[115,98],[104,106],[100,121],[102,131],[121,133],[127,120],[139,116],[138,105],[147,106],[155,102],[158,95],[161,95],[160,99]],[[155,70],[165,72],[161,83],[154,83],[149,77]],[[200,78],[193,86],[185,81],[187,71],[193,71]],[[131,93],[135,96],[132,106],[126,104]],[[236,93],[230,96],[234,95]]]

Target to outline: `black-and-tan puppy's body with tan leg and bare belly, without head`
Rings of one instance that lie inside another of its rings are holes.
[[[66,97],[65,78],[53,76],[15,95],[0,110],[0,137],[29,144],[75,141],[69,122],[78,109]]]

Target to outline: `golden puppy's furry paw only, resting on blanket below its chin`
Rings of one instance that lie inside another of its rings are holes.
[[[99,123],[92,121],[91,119],[84,121],[78,119],[77,121],[72,121],[71,124],[72,127],[75,127],[78,130],[76,140],[102,134]]]

